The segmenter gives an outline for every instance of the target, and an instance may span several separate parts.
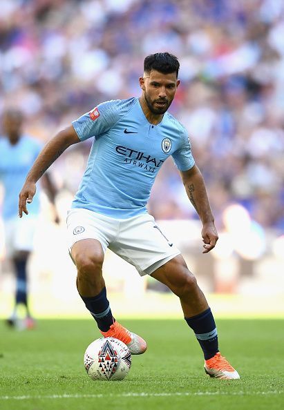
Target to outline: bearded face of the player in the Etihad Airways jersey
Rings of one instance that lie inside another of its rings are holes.
[[[161,115],[167,111],[179,84],[180,80],[176,78],[176,72],[163,74],[151,70],[149,73],[145,72],[144,77],[140,77],[140,86],[151,113]]]

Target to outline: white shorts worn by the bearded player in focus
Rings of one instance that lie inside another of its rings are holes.
[[[180,255],[148,213],[128,219],[115,219],[84,208],[73,208],[67,215],[69,252],[79,240],[95,239],[103,251],[110,248],[129,262],[141,276],[150,275],[160,266]]]

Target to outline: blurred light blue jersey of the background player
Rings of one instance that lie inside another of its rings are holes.
[[[3,219],[17,217],[19,193],[41,145],[26,135],[12,145],[6,137],[0,138],[0,183],[4,187]],[[39,195],[35,195],[28,206],[28,213],[39,213]]]

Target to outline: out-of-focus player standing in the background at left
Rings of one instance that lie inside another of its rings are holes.
[[[19,191],[25,182],[28,170],[35,162],[41,145],[28,135],[23,134],[23,115],[14,108],[3,113],[3,137],[0,139],[0,183],[4,188],[3,222],[5,228],[6,254],[12,260],[17,277],[15,306],[7,324],[20,324],[23,328],[32,329],[35,320],[28,307],[27,262],[33,247],[33,237],[39,215],[39,196],[30,206],[30,216],[19,219]],[[50,199],[54,200],[55,187],[48,174],[44,175],[44,184]],[[19,305],[26,309],[23,322],[17,318]]]

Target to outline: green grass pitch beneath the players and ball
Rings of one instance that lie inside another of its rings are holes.
[[[241,380],[205,375],[182,320],[124,320],[148,342],[122,382],[94,382],[83,366],[100,337],[90,320],[41,320],[32,331],[0,324],[0,409],[283,409],[283,320],[218,320],[220,348]]]

